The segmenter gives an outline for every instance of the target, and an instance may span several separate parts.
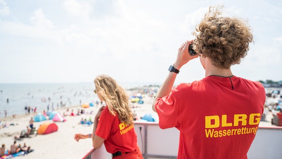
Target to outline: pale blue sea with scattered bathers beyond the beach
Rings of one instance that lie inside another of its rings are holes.
[[[120,83],[125,89],[148,83]],[[53,111],[61,107],[100,102],[93,92],[94,83],[0,83],[0,118],[25,114],[25,106],[36,112]],[[33,113],[33,112],[30,112]]]

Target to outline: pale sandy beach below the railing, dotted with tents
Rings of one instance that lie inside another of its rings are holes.
[[[129,93],[129,95],[132,95]],[[152,111],[151,103],[152,98],[145,96],[143,98],[143,104],[133,104],[133,111],[137,114],[137,117],[144,116],[146,113],[151,113],[152,116],[158,121],[157,114]],[[17,140],[17,144],[23,145],[26,143],[27,146],[30,146],[34,151],[25,155],[15,157],[14,159],[80,159],[86,151],[92,147],[92,142],[90,139],[80,140],[76,142],[73,139],[75,133],[91,133],[92,125],[82,125],[79,124],[81,118],[89,119],[90,117],[93,120],[93,117],[97,113],[101,105],[92,106],[89,108],[84,108],[85,114],[77,116],[66,116],[66,122],[55,122],[58,126],[58,131],[46,135],[31,135],[29,138],[22,138],[22,140]],[[81,106],[74,106],[69,108],[77,112],[77,109],[82,109]],[[63,114],[66,112],[67,108],[61,108],[56,110],[57,112]],[[90,114],[90,112],[92,114]],[[6,150],[10,149],[14,141],[14,136],[20,135],[21,130],[26,129],[28,126],[29,120],[31,117],[34,117],[35,114],[30,115],[21,115],[16,116],[15,118],[7,117],[2,118],[1,122],[6,123],[7,125],[14,124],[14,126],[8,126],[7,128],[0,129],[0,144],[5,144]],[[36,129],[39,126],[47,121],[34,122],[34,127]]]

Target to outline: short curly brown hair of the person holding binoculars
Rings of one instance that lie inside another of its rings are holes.
[[[240,64],[253,42],[251,29],[246,22],[238,18],[223,17],[221,6],[210,6],[200,24],[196,26],[198,34],[193,48],[199,56],[209,57],[212,65],[221,69],[230,69]]]

